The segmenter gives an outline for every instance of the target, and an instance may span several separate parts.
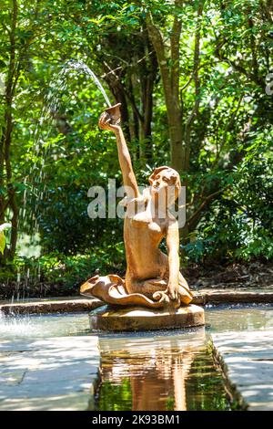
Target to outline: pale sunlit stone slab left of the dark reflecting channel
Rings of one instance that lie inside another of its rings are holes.
[[[3,340],[0,410],[93,410],[99,367],[97,337]]]

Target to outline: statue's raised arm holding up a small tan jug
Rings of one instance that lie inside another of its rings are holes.
[[[134,197],[138,197],[140,194],[136,183],[136,175],[133,170],[124,133],[118,123],[120,117],[119,107],[120,103],[116,104],[116,106],[106,109],[99,118],[98,126],[101,128],[101,130],[115,132],[118,161],[122,172],[123,183],[125,186],[129,186],[132,189]]]

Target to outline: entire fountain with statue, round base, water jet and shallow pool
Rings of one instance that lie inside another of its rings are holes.
[[[99,370],[97,337],[87,330],[86,314],[76,314],[76,300],[70,301],[74,311],[71,315],[21,317],[0,309],[0,408],[83,410],[88,400],[88,409],[94,409],[90,392],[94,392],[100,372],[102,382],[96,405],[100,411],[116,411],[118,407],[142,412],[228,410],[230,403],[238,407],[235,409],[246,408],[248,403],[238,402],[240,392],[228,391],[231,385],[236,389],[236,384],[228,381],[228,364],[231,381],[234,378],[245,398],[252,402],[250,409],[272,409],[272,307],[208,308],[206,334],[204,310],[192,305],[193,294],[179,272],[177,223],[167,210],[180,189],[178,173],[167,166],[158,167],[149,178],[150,188],[140,194],[120,127],[120,104],[110,105],[100,82],[84,63],[71,63],[71,68],[85,71],[98,82],[108,105],[99,126],[116,134],[120,166],[128,186],[123,201],[126,278],[108,274],[92,277],[83,284],[83,295],[106,302],[106,307],[90,314],[91,329],[163,331],[98,333],[102,354]],[[160,198],[167,204],[160,204]],[[0,251],[8,226],[0,225]],[[158,249],[164,236],[168,256]],[[18,285],[20,276],[18,271]],[[179,330],[193,326],[201,328]],[[165,331],[175,328],[178,330]],[[266,393],[261,394],[261,389]]]

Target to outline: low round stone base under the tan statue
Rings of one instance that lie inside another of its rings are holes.
[[[204,309],[190,304],[170,310],[105,306],[89,313],[91,330],[171,330],[205,325]]]

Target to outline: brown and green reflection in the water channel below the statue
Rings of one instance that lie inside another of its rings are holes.
[[[100,339],[98,410],[228,409],[204,329]]]

